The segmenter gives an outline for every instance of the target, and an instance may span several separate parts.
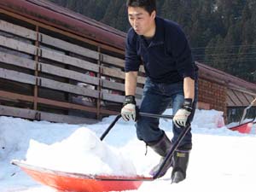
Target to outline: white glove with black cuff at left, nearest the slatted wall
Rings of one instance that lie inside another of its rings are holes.
[[[137,111],[135,96],[125,96],[124,106],[121,110],[122,118],[125,121],[130,119],[137,121]]]

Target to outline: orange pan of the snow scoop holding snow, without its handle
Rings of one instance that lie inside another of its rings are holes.
[[[60,172],[38,166],[31,166],[18,160],[12,164],[20,166],[21,170],[35,181],[57,189],[70,192],[103,192],[138,189],[143,181],[151,181],[152,177],[117,177],[86,175],[73,172]]]

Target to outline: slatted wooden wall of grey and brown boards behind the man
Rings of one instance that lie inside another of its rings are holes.
[[[0,115],[79,124],[119,113],[124,54],[78,39],[0,20]]]

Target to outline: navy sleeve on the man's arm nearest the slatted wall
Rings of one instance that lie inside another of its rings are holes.
[[[138,71],[141,64],[141,58],[137,55],[137,38],[134,33],[130,29],[125,41],[125,72]]]

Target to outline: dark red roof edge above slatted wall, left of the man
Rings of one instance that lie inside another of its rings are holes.
[[[125,32],[120,32],[111,26],[74,13],[49,1],[1,0],[0,8],[118,49],[125,47]]]

